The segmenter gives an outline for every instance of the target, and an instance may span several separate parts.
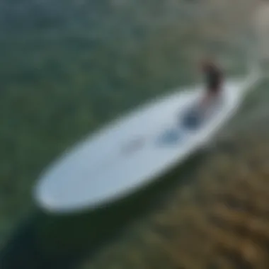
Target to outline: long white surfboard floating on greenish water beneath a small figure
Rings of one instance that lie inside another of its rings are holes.
[[[66,151],[40,177],[35,201],[47,212],[91,210],[131,194],[206,144],[239,108],[258,74],[224,84],[200,125],[184,125],[203,86],[143,105]]]

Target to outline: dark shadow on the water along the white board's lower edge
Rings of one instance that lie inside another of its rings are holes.
[[[186,184],[205,156],[198,152],[185,164],[135,194],[92,212],[54,216],[35,210],[0,253],[1,269],[76,268],[123,233],[135,219],[154,210],[178,184]]]

